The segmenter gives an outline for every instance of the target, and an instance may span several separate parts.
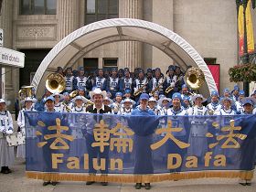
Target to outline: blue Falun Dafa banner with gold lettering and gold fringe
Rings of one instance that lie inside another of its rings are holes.
[[[255,115],[25,116],[28,177],[155,182],[253,176]]]

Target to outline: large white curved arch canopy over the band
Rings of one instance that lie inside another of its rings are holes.
[[[204,59],[185,39],[155,23],[132,18],[98,21],[80,27],[64,37],[41,62],[32,80],[32,85],[37,90],[40,83],[45,83],[48,70],[56,70],[57,67],[65,68],[68,65],[72,66],[93,48],[98,48],[107,43],[127,40],[140,41],[159,48],[171,59],[174,59],[183,70],[186,70],[187,66],[202,69],[208,91],[217,90],[215,80]]]

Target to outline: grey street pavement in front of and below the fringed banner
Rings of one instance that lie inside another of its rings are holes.
[[[16,123],[15,123],[16,124]],[[86,186],[85,182],[60,182],[57,186],[42,186],[42,180],[28,179],[25,176],[25,163],[21,159],[16,159],[14,166],[10,168],[13,173],[4,175],[0,174],[0,192],[133,192],[145,191],[135,189],[134,184],[109,183],[109,186],[102,187],[96,183]],[[254,171],[256,176],[256,171]],[[148,190],[147,190],[148,191]],[[151,192],[256,192],[256,178],[252,180],[252,185],[243,187],[238,183],[237,178],[201,178],[179,181],[164,181],[153,183]]]

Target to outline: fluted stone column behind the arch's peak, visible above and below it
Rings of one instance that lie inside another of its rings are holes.
[[[143,18],[143,0],[123,0],[123,13],[120,17],[124,18]],[[142,46],[138,41],[124,41],[123,43],[123,62],[124,67],[133,69],[142,68]]]

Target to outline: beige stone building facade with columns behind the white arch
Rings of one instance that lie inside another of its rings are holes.
[[[30,83],[48,51],[69,33],[90,23],[91,18],[92,21],[112,17],[139,18],[173,30],[196,48],[202,58],[208,59],[211,64],[219,64],[220,92],[225,87],[233,87],[229,83],[228,69],[237,64],[239,58],[235,0],[37,2],[42,2],[42,5],[36,6],[34,0],[3,0],[0,27],[5,33],[4,47],[26,54],[24,69],[5,67],[3,97],[10,101],[10,110],[13,109],[20,87]],[[108,8],[105,9],[104,6]],[[255,11],[252,12],[252,17],[255,26]],[[254,34],[255,30],[254,27]],[[126,41],[93,49],[73,68],[84,66],[85,69],[97,69],[115,65],[130,69],[160,67],[165,73],[170,64],[173,64],[173,60],[159,49],[141,42]]]

